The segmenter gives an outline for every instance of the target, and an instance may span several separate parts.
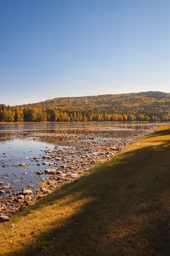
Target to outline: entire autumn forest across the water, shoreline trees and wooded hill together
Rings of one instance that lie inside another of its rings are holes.
[[[169,121],[170,93],[65,97],[22,106],[0,104],[0,122]]]

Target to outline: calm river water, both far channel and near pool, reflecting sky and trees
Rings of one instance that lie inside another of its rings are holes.
[[[115,139],[129,138],[129,136],[132,136],[132,134],[136,132],[135,129],[148,129],[151,125],[155,124],[118,122],[1,124],[0,137],[12,136],[12,140],[0,141],[0,181],[3,181],[4,184],[10,184],[10,186],[14,187],[13,191],[15,192],[27,187],[29,184],[38,186],[39,182],[43,179],[48,179],[48,175],[44,175],[42,179],[42,177],[36,174],[38,170],[45,170],[46,166],[37,166],[37,161],[33,159],[33,157],[38,157],[38,161],[40,161],[44,153],[43,150],[46,148],[52,150],[56,145],[62,150],[66,147],[71,147],[70,141],[67,140],[61,141],[51,138],[36,138],[36,140],[33,140],[33,138],[18,138],[16,132],[18,134],[20,134],[20,132],[102,134],[104,140],[104,138],[108,137]],[[25,157],[29,157],[29,159],[24,159]],[[28,165],[25,168],[20,168],[19,164],[21,163],[27,163]]]

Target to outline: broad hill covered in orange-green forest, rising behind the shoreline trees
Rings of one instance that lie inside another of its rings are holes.
[[[124,94],[106,94],[86,97],[64,97],[24,106],[40,108],[67,108],[78,110],[99,110],[104,113],[128,113],[134,109],[170,110],[170,93],[140,92]]]

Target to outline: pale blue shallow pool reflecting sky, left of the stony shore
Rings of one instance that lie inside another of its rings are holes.
[[[10,183],[15,187],[15,191],[24,188],[29,184],[38,184],[41,181],[36,174],[38,170],[44,170],[45,165],[37,166],[33,159],[24,159],[25,157],[38,157],[41,159],[43,151],[46,148],[53,149],[55,143],[47,141],[32,140],[32,138],[1,141],[0,143],[0,180],[4,184]],[[27,163],[25,168],[19,164]],[[3,167],[10,164],[10,167]],[[40,167],[40,168],[39,168]],[[24,175],[24,172],[27,174]],[[4,177],[4,179],[2,179]]]

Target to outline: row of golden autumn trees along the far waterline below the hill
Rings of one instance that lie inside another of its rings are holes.
[[[103,122],[103,121],[169,121],[169,111],[157,113],[102,113],[59,108],[11,107],[0,105],[0,122]]]

